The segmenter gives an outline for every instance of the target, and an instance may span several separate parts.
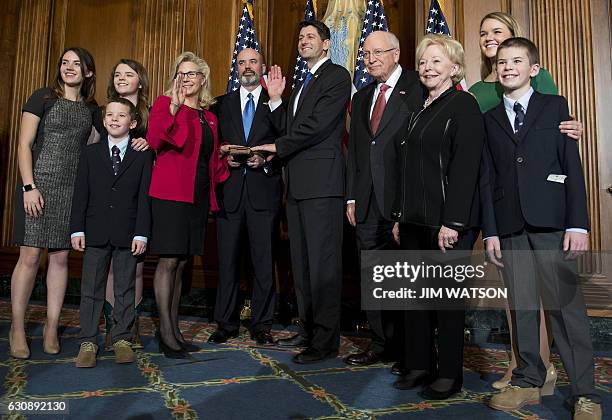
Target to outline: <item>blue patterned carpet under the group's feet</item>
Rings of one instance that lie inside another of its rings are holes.
[[[42,352],[44,306],[30,306],[29,360],[8,358],[10,306],[0,301],[1,402],[65,401],[67,414],[43,418],[74,419],[570,419],[564,407],[567,377],[560,368],[554,396],[539,406],[512,413],[486,406],[492,388],[507,365],[507,351],[466,348],[464,390],[443,402],[425,401],[415,391],[399,391],[391,384],[389,365],[349,367],[339,357],[315,365],[296,365],[292,352],[257,347],[243,330],[228,345],[206,343],[214,325],[185,320],[181,329],[202,349],[190,360],[170,360],[158,353],[153,319],[143,317],[145,348],[137,363],[117,365],[112,353],[100,352],[94,369],[77,369],[78,311],[62,312],[62,352]],[[274,331],[275,337],[291,335]],[[341,356],[363,346],[363,340],[342,338]],[[596,358],[597,389],[604,398],[604,418],[612,413],[612,357]],[[5,418],[34,417],[9,414]]]

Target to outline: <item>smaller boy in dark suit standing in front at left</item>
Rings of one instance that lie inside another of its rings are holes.
[[[76,367],[96,366],[98,323],[104,305],[111,258],[115,277],[113,349],[117,363],[135,360],[130,329],[134,323],[136,256],[145,252],[151,229],[149,184],[151,152],[128,147],[136,109],[127,99],[104,108],[108,138],[83,149],[72,201],[72,247],[85,251],[81,278]]]

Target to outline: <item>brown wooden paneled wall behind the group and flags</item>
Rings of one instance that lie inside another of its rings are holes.
[[[424,34],[430,0],[383,0],[389,29],[400,39],[401,64],[415,68],[414,51]],[[317,1],[317,17],[329,0]],[[571,112],[585,126],[580,140],[593,225],[592,246],[612,249],[612,109],[610,2],[607,0],[440,0],[449,28],[466,53],[468,85],[480,79],[479,24],[486,13],[512,13],[541,50]],[[255,0],[254,18],[268,64],[292,76],[296,25],[305,0]],[[0,260],[15,257],[11,245],[13,192],[20,109],[31,92],[54,77],[67,46],[89,49],[97,66],[97,100],[103,102],[112,65],[121,57],[142,62],[151,79],[151,100],[161,94],[175,57],[191,50],[211,67],[213,94],[225,91],[241,0],[5,0],[0,16]],[[287,89],[287,94],[289,89]],[[212,226],[211,226],[212,227]],[[214,250],[214,230],[207,249]],[[216,253],[204,266],[214,276]],[[9,266],[0,264],[0,267]],[[612,264],[611,264],[612,265]],[[597,260],[586,272],[607,282],[612,267]],[[194,276],[200,280],[202,263]],[[6,270],[0,274],[7,274]],[[197,282],[196,282],[197,283]],[[198,283],[203,284],[203,283]],[[608,289],[609,290],[609,289]]]

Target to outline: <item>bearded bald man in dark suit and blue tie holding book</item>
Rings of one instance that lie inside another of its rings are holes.
[[[217,98],[212,111],[219,120],[223,153],[231,145],[256,146],[278,136],[269,118],[269,97],[261,86],[265,64],[259,52],[242,50],[237,58],[240,89]],[[273,344],[270,329],[274,315],[273,242],[280,207],[280,174],[271,171],[259,154],[237,161],[229,154],[230,177],[220,190],[217,215],[219,284],[215,303],[217,330],[210,343],[237,337],[240,328],[238,289],[243,231],[248,233],[255,281],[253,283],[251,338],[259,345]]]

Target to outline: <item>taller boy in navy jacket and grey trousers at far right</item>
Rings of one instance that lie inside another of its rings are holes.
[[[540,402],[546,377],[538,337],[541,299],[572,384],[574,419],[600,419],[589,321],[575,261],[588,248],[582,165],[576,142],[558,130],[569,118],[566,99],[534,92],[530,85],[538,63],[531,41],[503,42],[496,70],[504,97],[485,114],[489,191],[483,237],[489,258],[503,267],[519,355],[510,385],[489,405],[514,411]],[[501,250],[512,251],[503,264]]]

